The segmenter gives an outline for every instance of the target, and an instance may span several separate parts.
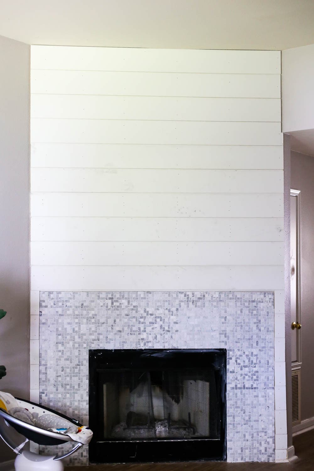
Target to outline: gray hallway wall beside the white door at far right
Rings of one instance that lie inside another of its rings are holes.
[[[301,420],[305,420],[314,416],[314,157],[291,151],[291,188],[301,191]]]

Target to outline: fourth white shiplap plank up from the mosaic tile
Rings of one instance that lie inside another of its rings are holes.
[[[32,216],[282,218],[280,194],[36,193]]]

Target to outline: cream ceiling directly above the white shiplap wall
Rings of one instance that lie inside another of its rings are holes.
[[[0,0],[0,35],[69,46],[290,49],[314,43],[314,0]]]

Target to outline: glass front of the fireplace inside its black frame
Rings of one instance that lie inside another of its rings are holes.
[[[105,439],[218,438],[215,376],[202,369],[101,374]]]

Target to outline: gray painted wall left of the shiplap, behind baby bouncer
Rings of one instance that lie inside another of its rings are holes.
[[[29,397],[30,46],[0,36],[0,390]],[[13,458],[0,443],[0,462]]]

